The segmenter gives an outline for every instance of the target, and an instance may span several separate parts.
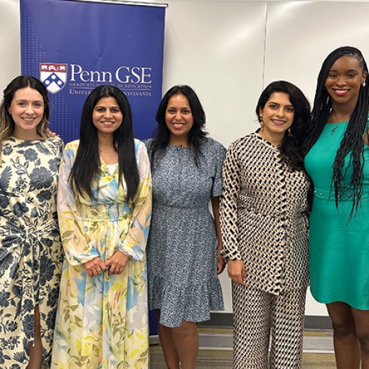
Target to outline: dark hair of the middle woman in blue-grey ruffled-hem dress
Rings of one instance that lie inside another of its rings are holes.
[[[206,115],[202,108],[200,99],[196,95],[195,91],[186,84],[177,84],[171,87],[165,93],[162,101],[160,102],[159,108],[157,108],[156,121],[157,128],[154,131],[154,139],[149,148],[151,151],[151,163],[153,164],[155,155],[163,155],[167,145],[169,144],[170,132],[165,122],[165,112],[167,110],[169,99],[175,95],[183,95],[188,99],[190,103],[190,109],[193,115],[193,126],[188,132],[188,145],[193,146],[195,153],[195,164],[198,165],[198,158],[201,155],[201,144],[203,139],[207,136],[205,131]]]

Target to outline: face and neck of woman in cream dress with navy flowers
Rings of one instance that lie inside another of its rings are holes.
[[[8,112],[14,121],[13,136],[21,139],[39,138],[37,126],[44,117],[44,98],[31,87],[18,89],[14,93]]]

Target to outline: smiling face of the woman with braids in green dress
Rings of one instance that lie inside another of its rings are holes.
[[[357,58],[347,55],[338,58],[325,79],[325,89],[332,105],[347,104],[348,108],[354,110],[365,77],[366,72],[363,72]]]

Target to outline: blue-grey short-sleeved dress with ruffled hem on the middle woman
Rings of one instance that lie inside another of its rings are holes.
[[[145,143],[150,156],[152,140]],[[210,311],[224,309],[209,201],[221,195],[226,149],[205,138],[201,150],[196,167],[193,147],[169,144],[152,166],[149,307],[160,309],[160,323],[171,328],[182,321],[207,321]]]

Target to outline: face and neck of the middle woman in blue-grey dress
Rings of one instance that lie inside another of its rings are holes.
[[[187,145],[188,133],[193,127],[193,115],[186,96],[180,94],[169,98],[165,123],[170,132],[169,141],[174,145]]]

